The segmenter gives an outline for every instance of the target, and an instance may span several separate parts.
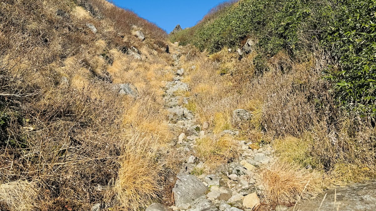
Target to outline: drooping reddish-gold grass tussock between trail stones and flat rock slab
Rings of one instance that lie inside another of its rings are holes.
[[[309,199],[320,193],[322,175],[287,163],[277,162],[263,170],[257,182],[262,185],[261,194],[267,203],[284,204]]]

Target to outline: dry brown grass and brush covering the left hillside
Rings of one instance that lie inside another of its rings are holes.
[[[132,182],[126,169],[139,168],[151,182],[161,175],[145,166],[161,166],[154,155],[140,155],[141,148],[127,152],[124,145],[136,144],[132,140],[138,137],[150,146],[143,150],[155,152],[154,147],[166,145],[171,137],[161,87],[173,77],[172,59],[158,53],[165,33],[105,1],[86,3],[0,3],[0,181],[15,184],[15,190],[22,189],[17,182],[39,181],[44,198],[33,198],[30,207],[38,203],[41,210],[88,210],[103,201],[120,206],[114,194],[117,178],[119,194],[133,197],[122,206],[145,206],[146,200],[124,193],[130,187],[127,180]],[[65,15],[56,15],[58,9]],[[98,32],[92,33],[87,23]],[[135,38],[127,24],[142,29],[146,41]],[[124,53],[132,46],[141,51],[142,61]],[[119,95],[120,83],[135,85],[139,96]],[[143,165],[127,163],[135,159]],[[163,182],[148,187],[159,188]],[[139,185],[132,193],[140,194]],[[157,193],[161,191],[150,190],[145,198],[155,199]],[[9,204],[24,197],[14,194],[18,198]]]

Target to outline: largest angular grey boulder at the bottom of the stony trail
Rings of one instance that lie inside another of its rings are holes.
[[[172,192],[174,194],[175,206],[179,209],[188,209],[194,200],[204,196],[208,188],[195,176],[178,174]]]

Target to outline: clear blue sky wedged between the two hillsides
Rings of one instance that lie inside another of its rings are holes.
[[[224,0],[113,0],[121,8],[131,9],[170,33],[177,24],[192,27],[208,11]]]

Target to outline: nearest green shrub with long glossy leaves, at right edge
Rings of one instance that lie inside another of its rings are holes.
[[[339,60],[327,78],[337,99],[361,114],[376,114],[376,1],[336,1],[323,45]]]

